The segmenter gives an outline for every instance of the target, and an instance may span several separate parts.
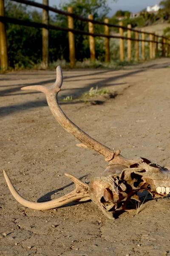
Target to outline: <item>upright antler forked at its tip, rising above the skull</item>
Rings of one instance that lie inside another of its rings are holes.
[[[91,138],[88,134],[77,127],[77,125],[71,122],[71,120],[68,119],[68,117],[60,108],[57,100],[57,94],[61,90],[60,88],[62,86],[62,70],[60,66],[58,66],[56,70],[57,78],[52,86],[45,87],[42,85],[34,85],[23,87],[21,90],[39,90],[45,93],[48,106],[59,124],[62,125],[66,131],[76,137],[77,140],[84,144],[86,148],[99,152],[99,154],[102,154],[105,157],[106,161],[111,161],[114,158],[114,155],[119,154],[119,151],[113,151],[102,143],[99,143],[98,141]]]

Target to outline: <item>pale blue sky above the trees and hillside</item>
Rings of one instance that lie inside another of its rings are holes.
[[[42,3],[42,0],[35,0],[38,3]],[[113,14],[119,10],[128,10],[130,12],[140,12],[142,9],[147,6],[153,6],[156,3],[159,3],[161,0],[117,0],[117,2],[113,2],[113,0],[108,0],[108,5],[111,7],[111,11],[109,16],[113,16]],[[59,6],[59,3],[69,2],[69,0],[49,0],[50,6]]]

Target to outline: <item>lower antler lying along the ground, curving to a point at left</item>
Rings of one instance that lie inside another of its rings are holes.
[[[62,206],[64,204],[68,204],[73,201],[88,201],[90,200],[90,197],[88,195],[88,185],[83,183],[81,180],[77,179],[73,175],[68,175],[65,173],[67,177],[69,177],[76,185],[76,189],[74,189],[72,192],[68,193],[67,195],[64,195],[60,198],[54,199],[52,201],[48,202],[42,202],[42,203],[35,203],[26,200],[23,198],[17,190],[14,188],[11,180],[9,179],[6,172],[3,170],[4,177],[6,179],[6,183],[8,185],[9,190],[11,191],[11,194],[13,197],[23,206],[35,209],[35,210],[46,210],[46,209],[53,209],[57,208],[59,206]]]

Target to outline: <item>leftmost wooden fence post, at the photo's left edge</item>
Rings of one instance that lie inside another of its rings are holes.
[[[4,0],[0,0],[0,16],[5,16]],[[0,69],[8,70],[6,27],[2,21],[0,21]]]

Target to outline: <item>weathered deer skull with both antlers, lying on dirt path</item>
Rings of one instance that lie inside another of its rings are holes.
[[[101,176],[91,179],[89,185],[72,175],[65,174],[74,181],[76,189],[61,198],[42,203],[31,202],[21,197],[6,172],[3,171],[8,188],[14,198],[25,207],[40,210],[56,208],[72,201],[91,199],[108,218],[113,218],[114,212],[125,209],[130,199],[139,201],[137,192],[147,190],[153,198],[168,195],[170,193],[170,171],[145,158],[127,159],[120,154],[119,149],[114,151],[82,131],[68,119],[59,106],[57,94],[61,90],[61,86],[62,70],[61,67],[57,67],[57,79],[51,87],[35,85],[21,89],[38,90],[45,93],[48,106],[59,124],[81,142],[77,146],[102,154],[109,162],[108,166]]]

